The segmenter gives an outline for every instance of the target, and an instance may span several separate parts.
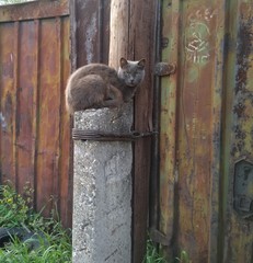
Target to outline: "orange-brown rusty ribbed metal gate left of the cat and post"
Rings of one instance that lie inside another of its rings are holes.
[[[70,71],[69,3],[0,8],[0,182],[34,188],[34,206],[57,205],[71,226],[70,119],[64,90]]]

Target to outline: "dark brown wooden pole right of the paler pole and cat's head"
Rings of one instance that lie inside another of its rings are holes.
[[[135,96],[135,130],[152,130],[154,36],[157,1],[130,1],[129,47],[130,59],[146,58],[146,77]],[[151,138],[143,138],[134,146],[134,215],[133,262],[142,262],[146,254]]]

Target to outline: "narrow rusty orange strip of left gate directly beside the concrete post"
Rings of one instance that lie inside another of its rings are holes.
[[[60,151],[59,151],[59,188],[60,188],[60,218],[64,226],[72,226],[72,139],[70,115],[65,105],[65,87],[70,72],[69,61],[69,19],[61,19],[61,84],[60,89]]]

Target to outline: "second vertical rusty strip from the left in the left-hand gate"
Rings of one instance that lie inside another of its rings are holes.
[[[18,22],[16,22],[18,23]],[[18,89],[18,116],[16,125],[16,187],[22,193],[24,186],[34,188],[33,167],[33,111],[34,95],[36,96],[36,64],[37,64],[37,38],[35,35],[36,23],[34,21],[21,22],[19,31],[19,70],[16,71]]]

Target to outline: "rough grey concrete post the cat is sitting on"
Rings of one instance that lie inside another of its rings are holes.
[[[127,133],[131,108],[78,112],[74,127]],[[74,141],[72,262],[131,261],[131,142]]]

